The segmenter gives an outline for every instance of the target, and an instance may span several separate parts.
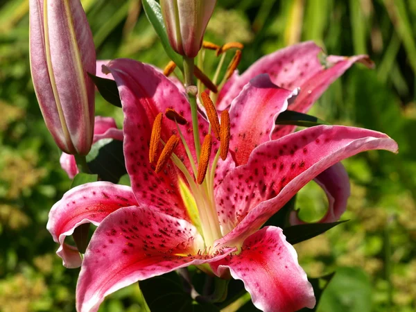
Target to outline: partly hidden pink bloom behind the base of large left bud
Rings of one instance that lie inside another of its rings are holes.
[[[96,116],[94,122],[94,137],[92,144],[101,139],[115,139],[123,141],[123,130],[117,129],[116,121],[111,117]],[[62,169],[73,179],[78,174],[78,166],[73,155],[62,153],[60,159]]]

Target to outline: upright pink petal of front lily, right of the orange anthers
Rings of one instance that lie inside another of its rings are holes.
[[[263,74],[250,80],[234,98],[229,108],[232,133],[229,148],[237,166],[248,161],[254,148],[270,141],[277,116],[286,110],[288,98],[296,96],[297,91],[277,87]]]

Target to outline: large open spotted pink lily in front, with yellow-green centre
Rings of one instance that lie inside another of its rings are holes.
[[[270,140],[277,114],[297,90],[277,87],[260,75],[231,103],[230,153],[218,160],[220,144],[214,139],[212,166],[202,184],[196,184],[198,155],[187,96],[146,64],[121,59],[107,67],[123,105],[125,164],[132,187],[94,182],[71,189],[51,209],[47,226],[71,267],[80,264],[80,257],[66,247],[65,236],[80,224],[98,225],[78,279],[77,310],[97,311],[106,295],[124,286],[190,265],[243,280],[262,311],[312,308],[313,288],[294,248],[281,229],[261,226],[340,160],[372,149],[396,153],[395,141],[380,132],[325,125]],[[188,122],[162,120],[164,142],[179,130],[183,140],[155,173],[150,137],[156,116],[167,108]],[[198,129],[202,141],[209,130],[202,115]]]

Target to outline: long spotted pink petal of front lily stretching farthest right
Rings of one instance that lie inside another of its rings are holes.
[[[236,227],[219,241],[245,238],[324,170],[376,149],[397,153],[398,146],[381,132],[338,125],[319,125],[262,144],[216,189],[220,222],[229,230]]]

